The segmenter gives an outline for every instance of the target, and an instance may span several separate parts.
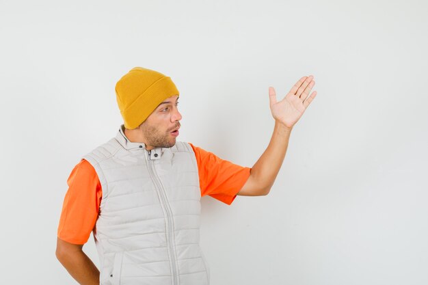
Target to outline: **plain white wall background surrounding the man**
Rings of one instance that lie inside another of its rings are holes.
[[[202,198],[212,285],[428,284],[427,1],[0,3],[1,284],[75,284],[55,258],[66,179],[116,135],[134,66],[176,83],[181,141],[246,166],[269,85],[315,76],[271,193]]]

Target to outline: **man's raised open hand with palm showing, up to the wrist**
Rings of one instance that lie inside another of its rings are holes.
[[[302,77],[279,102],[276,100],[275,89],[269,87],[271,113],[276,121],[288,128],[293,128],[295,123],[302,117],[304,111],[306,111],[306,108],[314,100],[315,96],[317,96],[316,91],[308,96],[310,90],[315,85],[315,81],[312,80],[313,78],[312,75]]]

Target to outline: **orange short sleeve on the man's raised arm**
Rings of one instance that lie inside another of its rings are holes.
[[[210,195],[228,205],[232,204],[250,177],[251,168],[236,165],[220,159],[212,152],[190,143],[189,145],[193,148],[198,163],[201,196]]]

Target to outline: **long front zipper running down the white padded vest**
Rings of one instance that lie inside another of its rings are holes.
[[[170,253],[170,260],[172,262],[172,285],[178,285],[178,278],[176,275],[176,272],[178,272],[177,264],[176,264],[176,252],[174,249],[174,245],[172,244],[172,241],[174,241],[174,228],[172,226],[172,211],[171,208],[167,202],[166,193],[165,190],[162,187],[161,181],[157,177],[154,162],[150,159],[150,156],[152,154],[152,150],[148,150],[148,172],[156,185],[156,189],[158,193],[160,194],[159,197],[161,198],[161,206],[165,209],[165,212],[167,214],[167,245],[168,245],[168,252]]]

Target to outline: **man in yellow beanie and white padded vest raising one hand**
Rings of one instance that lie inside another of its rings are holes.
[[[317,92],[302,77],[276,100],[275,127],[252,168],[176,141],[178,90],[165,75],[133,68],[116,84],[124,124],[116,137],[86,154],[68,178],[56,256],[82,285],[204,285],[209,269],[199,247],[200,197],[231,204],[236,195],[267,195],[291,130]],[[90,233],[100,271],[82,251]]]

